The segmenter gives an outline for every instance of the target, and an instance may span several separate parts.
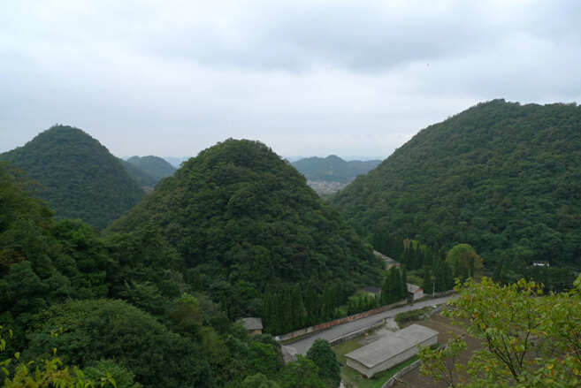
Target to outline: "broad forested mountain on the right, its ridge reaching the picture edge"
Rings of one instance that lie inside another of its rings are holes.
[[[495,262],[581,264],[581,108],[479,103],[429,126],[329,202],[389,232]]]

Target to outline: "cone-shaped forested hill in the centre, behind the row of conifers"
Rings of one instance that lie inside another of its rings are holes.
[[[230,139],[202,151],[107,232],[149,222],[210,291],[248,285],[251,295],[271,284],[282,292],[285,283],[313,280],[320,292],[340,278],[350,294],[379,282],[371,247],[260,142]]]

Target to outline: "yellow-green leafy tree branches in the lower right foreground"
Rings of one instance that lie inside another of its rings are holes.
[[[464,339],[435,351],[423,348],[425,374],[452,387],[581,386],[581,277],[570,293],[545,296],[542,285],[524,279],[506,286],[470,279],[455,290],[443,315],[483,348],[466,366],[456,364]]]

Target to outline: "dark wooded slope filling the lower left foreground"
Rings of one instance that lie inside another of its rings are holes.
[[[321,381],[321,360],[285,367],[271,336],[250,338],[225,303],[196,293],[152,224],[101,238],[79,220],[55,221],[35,187],[0,163],[3,386],[108,377],[105,387],[337,387]]]

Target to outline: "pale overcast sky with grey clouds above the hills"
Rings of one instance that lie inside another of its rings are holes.
[[[55,123],[116,156],[227,138],[385,158],[479,102],[581,103],[581,2],[3,1],[0,152]]]

